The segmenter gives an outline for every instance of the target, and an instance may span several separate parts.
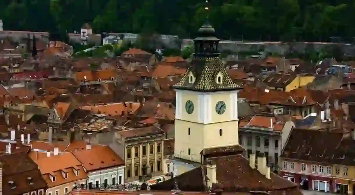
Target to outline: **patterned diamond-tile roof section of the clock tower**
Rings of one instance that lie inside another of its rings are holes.
[[[193,73],[195,82],[189,82],[189,74]],[[222,74],[222,83],[217,83],[215,78]],[[219,57],[195,57],[182,79],[173,86],[174,89],[193,91],[221,91],[235,90],[241,87],[229,77],[225,66]]]

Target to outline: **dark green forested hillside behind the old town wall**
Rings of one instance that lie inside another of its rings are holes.
[[[6,30],[73,32],[89,22],[96,33],[194,36],[206,16],[203,0],[2,0]],[[219,38],[324,41],[352,38],[353,0],[211,0]]]

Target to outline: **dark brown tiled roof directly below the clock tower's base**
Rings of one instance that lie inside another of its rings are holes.
[[[276,174],[270,173],[271,179],[267,179],[257,169],[251,168],[248,159],[242,155],[213,157],[208,158],[208,160],[215,162],[217,166],[216,180],[220,188],[225,192],[249,193],[251,190],[290,190],[290,192],[293,192],[290,194],[302,194],[298,190],[297,184],[283,179]],[[180,190],[204,191],[206,190],[206,182],[208,180],[207,168],[206,166],[202,166],[192,169],[176,176],[176,180]],[[175,179],[169,179],[150,187],[153,190],[171,190],[174,187],[174,183]]]

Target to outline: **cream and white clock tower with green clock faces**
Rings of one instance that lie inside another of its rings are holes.
[[[208,8],[206,8],[208,9]],[[201,162],[200,152],[238,145],[237,92],[218,53],[219,39],[206,22],[195,38],[190,67],[176,91],[174,156]]]

